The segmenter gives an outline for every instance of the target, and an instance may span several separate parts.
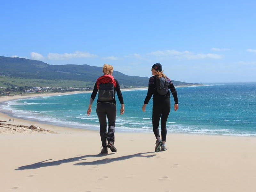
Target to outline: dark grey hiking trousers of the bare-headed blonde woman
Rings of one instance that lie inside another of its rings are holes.
[[[100,139],[103,147],[107,147],[107,140],[115,142],[116,105],[113,103],[97,103],[96,112],[100,121]],[[108,117],[108,133],[107,119]]]

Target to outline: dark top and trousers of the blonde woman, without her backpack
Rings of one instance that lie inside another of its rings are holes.
[[[120,90],[120,85],[116,79],[116,87],[114,87],[114,99],[111,101],[99,101],[97,100],[96,112],[100,122],[100,138],[102,147],[107,147],[107,140],[115,142],[115,126],[116,126],[116,99],[115,93],[117,93],[120,104],[124,104],[123,95]],[[95,99],[98,92],[97,84],[95,83],[92,91],[91,98]],[[107,133],[107,119],[108,117],[108,133]]]

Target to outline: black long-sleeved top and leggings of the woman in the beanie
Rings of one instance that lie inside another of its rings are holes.
[[[174,85],[172,84],[172,81],[169,78],[168,80],[169,80],[169,90],[171,90],[172,92],[172,96],[174,98],[175,104],[178,104],[177,91]],[[152,113],[153,131],[156,136],[156,139],[160,138],[158,126],[161,118],[162,141],[166,141],[166,133],[167,133],[166,122],[171,110],[171,104],[170,104],[171,93],[169,90],[166,95],[159,95],[156,90],[156,76],[152,76],[149,78],[148,93],[144,100],[144,103],[148,104],[148,101],[150,100],[153,94],[153,113]]]

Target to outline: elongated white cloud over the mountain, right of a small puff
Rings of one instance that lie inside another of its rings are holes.
[[[80,51],[76,51],[75,53],[64,53],[64,54],[48,53],[47,55],[47,59],[49,60],[67,60],[72,58],[92,58],[92,57],[97,57],[97,55],[93,55],[88,52],[80,52]]]

